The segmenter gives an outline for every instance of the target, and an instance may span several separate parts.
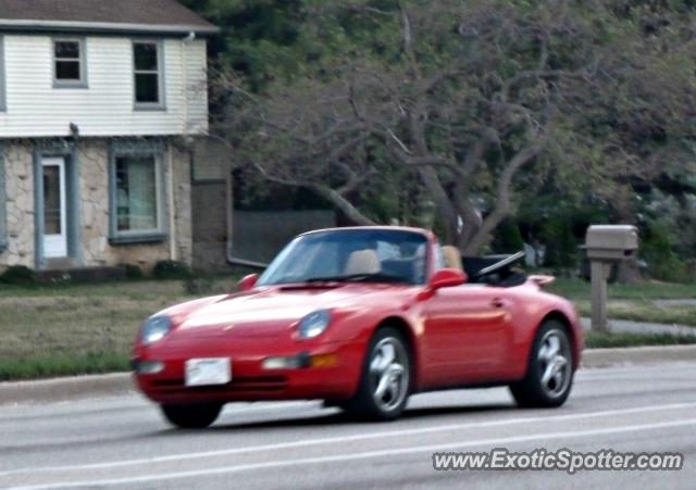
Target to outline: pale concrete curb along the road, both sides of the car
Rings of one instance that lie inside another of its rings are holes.
[[[582,367],[599,368],[696,361],[696,345],[587,349]],[[0,405],[42,403],[134,393],[130,373],[0,382]]]

